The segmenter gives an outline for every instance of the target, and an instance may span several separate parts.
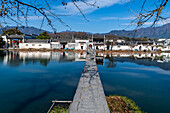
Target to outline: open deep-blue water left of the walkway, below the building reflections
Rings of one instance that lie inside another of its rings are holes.
[[[72,100],[84,67],[84,62],[55,60],[46,67],[37,62],[16,67],[2,63],[0,113],[44,113],[54,99]]]

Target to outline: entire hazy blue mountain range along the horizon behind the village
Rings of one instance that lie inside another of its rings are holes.
[[[3,29],[0,29],[0,34],[2,34],[2,30],[10,29],[10,28],[16,28],[16,26],[6,26]],[[18,27],[18,30],[23,32],[24,34],[40,34],[44,32],[45,30],[40,30],[35,27]],[[47,31],[49,32],[49,31]],[[78,31],[62,31],[60,33],[76,33]],[[51,32],[49,32],[51,33]],[[92,34],[90,32],[86,32],[87,34]],[[117,36],[127,36],[127,37],[148,37],[148,38],[170,38],[170,23],[165,24],[163,26],[159,27],[147,27],[147,28],[141,28],[136,33],[134,30],[112,30],[109,33],[96,33],[96,35],[107,35],[107,34],[115,34]]]

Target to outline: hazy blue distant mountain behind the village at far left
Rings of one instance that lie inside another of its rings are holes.
[[[4,30],[12,29],[12,28],[16,28],[16,26],[6,26],[6,27],[0,29],[0,34],[2,34]],[[40,33],[45,31],[45,30],[40,30],[35,27],[18,27],[18,30],[24,34],[36,34],[36,35],[39,35]],[[47,31],[47,32],[49,32],[49,31]]]

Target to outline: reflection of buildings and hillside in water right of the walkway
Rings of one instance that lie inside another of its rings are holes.
[[[116,62],[130,62],[145,66],[156,66],[164,70],[170,70],[170,53],[112,53],[112,54],[97,54],[103,65],[107,68],[115,68]],[[102,56],[102,57],[101,57]],[[103,60],[101,60],[103,59]],[[104,59],[106,61],[104,62]],[[102,64],[100,62],[100,64]]]

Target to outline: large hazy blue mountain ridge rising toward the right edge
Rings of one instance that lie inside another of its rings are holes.
[[[141,28],[136,33],[134,30],[112,30],[105,34],[127,37],[170,38],[170,23],[159,27]]]

